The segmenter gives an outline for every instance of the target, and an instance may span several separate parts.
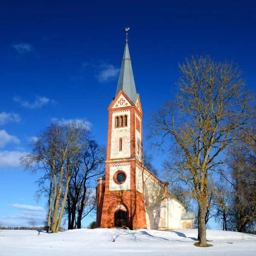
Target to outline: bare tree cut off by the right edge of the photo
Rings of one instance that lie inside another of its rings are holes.
[[[230,148],[227,178],[233,192],[233,230],[250,231],[256,221],[256,135],[255,126],[247,127],[241,140]]]

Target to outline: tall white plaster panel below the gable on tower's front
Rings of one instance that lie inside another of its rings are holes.
[[[127,115],[127,127],[115,128],[115,117]],[[122,138],[122,151],[119,151],[119,139]],[[111,159],[129,158],[131,157],[131,112],[117,111],[112,114],[112,128],[111,128]]]

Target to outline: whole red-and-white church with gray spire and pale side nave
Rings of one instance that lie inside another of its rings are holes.
[[[143,111],[126,40],[116,96],[108,107],[106,173],[97,180],[96,226],[194,228],[195,215],[143,166]]]

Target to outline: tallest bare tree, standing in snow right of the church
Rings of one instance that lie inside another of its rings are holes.
[[[179,64],[175,100],[169,100],[149,119],[148,137],[166,145],[172,182],[183,182],[198,203],[198,239],[206,247],[205,214],[209,174],[223,163],[222,152],[251,117],[253,94],[243,72],[231,61],[217,62],[209,55]],[[157,141],[160,138],[160,141]]]

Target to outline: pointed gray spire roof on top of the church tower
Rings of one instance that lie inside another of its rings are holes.
[[[136,93],[134,76],[131,67],[131,57],[128,48],[128,43],[125,44],[125,52],[122,59],[122,66],[120,70],[120,75],[118,79],[116,95],[120,90],[123,90],[124,93],[131,99],[131,101],[135,104],[138,98],[138,94]]]

